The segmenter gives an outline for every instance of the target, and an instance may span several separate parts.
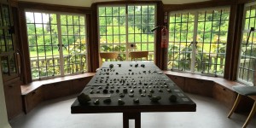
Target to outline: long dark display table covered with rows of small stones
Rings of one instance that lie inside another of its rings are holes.
[[[166,74],[148,61],[104,62],[83,92],[91,101],[71,106],[71,113],[123,113],[123,127],[141,113],[195,112],[196,104]]]

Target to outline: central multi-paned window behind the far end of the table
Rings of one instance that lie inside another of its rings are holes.
[[[129,51],[148,51],[154,60],[154,5],[99,7],[100,52],[118,52],[119,61],[131,60]]]

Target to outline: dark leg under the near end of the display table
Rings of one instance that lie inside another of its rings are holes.
[[[141,128],[141,113],[123,113],[123,128],[129,128],[129,119],[135,119],[135,128]]]

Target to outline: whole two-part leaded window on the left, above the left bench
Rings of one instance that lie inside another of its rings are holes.
[[[32,79],[87,71],[84,15],[26,11]]]

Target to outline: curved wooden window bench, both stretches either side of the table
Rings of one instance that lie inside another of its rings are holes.
[[[231,108],[236,101],[234,85],[242,85],[235,81],[222,78],[207,77],[199,74],[177,73],[164,71],[183,91],[201,96],[209,96]],[[31,84],[21,85],[21,93],[25,113],[35,108],[40,102],[61,96],[69,96],[81,92],[95,73],[61,77],[56,79],[38,80]],[[236,108],[235,112],[249,112],[253,101],[247,97]]]

